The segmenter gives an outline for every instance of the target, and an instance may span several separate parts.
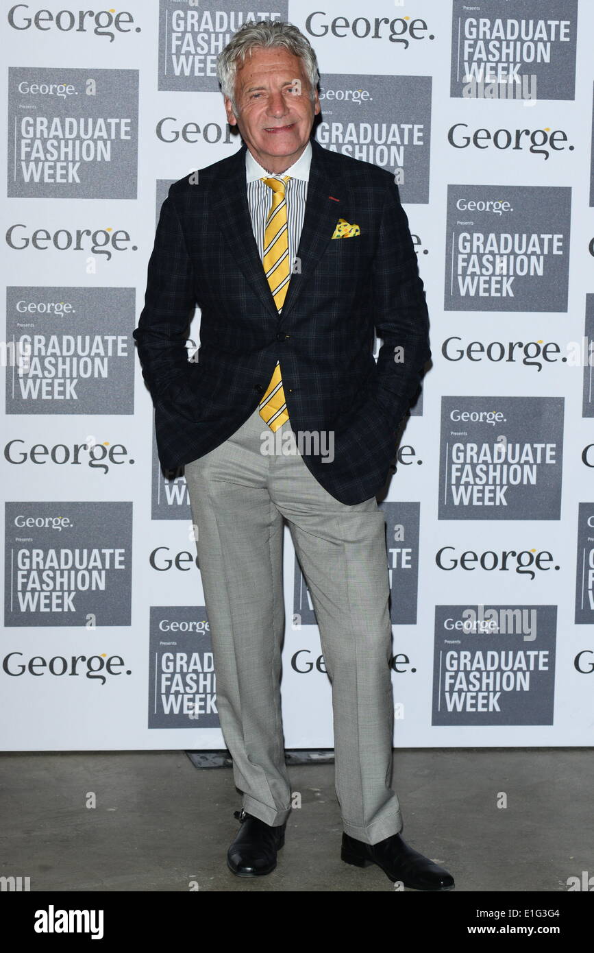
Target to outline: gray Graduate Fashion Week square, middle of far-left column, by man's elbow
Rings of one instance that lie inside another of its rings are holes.
[[[133,414],[133,288],[7,289],[7,414]]]

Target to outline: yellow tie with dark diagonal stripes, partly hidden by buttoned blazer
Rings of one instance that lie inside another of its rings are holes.
[[[272,207],[267,216],[264,233],[263,264],[267,282],[279,314],[283,309],[290,280],[287,199],[285,197],[285,185],[289,178],[289,175],[285,175],[283,179],[263,178],[262,180],[272,190]],[[278,430],[288,420],[280,361],[276,362],[266,394],[260,401],[259,413],[272,431]]]

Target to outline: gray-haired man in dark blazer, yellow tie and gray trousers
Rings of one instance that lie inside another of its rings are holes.
[[[391,624],[375,495],[430,356],[406,214],[392,175],[310,138],[319,74],[295,27],[246,25],[218,74],[243,147],[171,186],[134,337],[161,462],[186,464],[219,716],[243,792],[228,866],[274,869],[290,811],[279,687],[287,519],[332,682],[342,859],[375,862],[408,887],[450,889],[446,870],[403,841],[390,786]],[[185,349],[196,303],[197,363]]]

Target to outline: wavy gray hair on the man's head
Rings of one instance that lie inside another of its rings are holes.
[[[247,54],[256,48],[285,47],[294,56],[303,61],[304,71],[309,80],[309,95],[314,91],[320,79],[316,54],[307,36],[292,23],[264,20],[261,23],[245,23],[229,40],[217,62],[217,76],[224,96],[228,96],[237,114],[235,104],[235,76],[237,65],[246,61]]]

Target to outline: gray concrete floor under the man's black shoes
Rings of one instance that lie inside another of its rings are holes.
[[[340,860],[333,765],[288,770],[302,806],[276,870],[246,880],[225,862],[230,769],[197,770],[182,751],[4,754],[0,874],[31,891],[393,891],[379,867]],[[395,752],[403,836],[457,891],[565,892],[594,875],[593,781],[592,749]]]

